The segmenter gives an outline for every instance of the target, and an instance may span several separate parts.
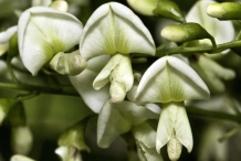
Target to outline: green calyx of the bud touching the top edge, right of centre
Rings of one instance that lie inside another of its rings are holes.
[[[178,4],[171,0],[159,0],[156,9],[154,10],[154,14],[181,23],[186,21]]]

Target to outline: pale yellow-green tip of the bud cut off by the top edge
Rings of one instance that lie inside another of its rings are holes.
[[[127,0],[128,4],[138,13],[144,15],[154,15],[158,0]]]

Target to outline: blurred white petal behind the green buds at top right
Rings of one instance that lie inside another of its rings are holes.
[[[219,21],[206,13],[209,4],[214,3],[212,0],[197,1],[188,12],[187,22],[197,22],[205,28],[216,40],[217,44],[230,42],[234,39],[234,28],[231,21]]]

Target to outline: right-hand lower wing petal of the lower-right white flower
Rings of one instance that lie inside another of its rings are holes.
[[[181,105],[182,104],[182,105]],[[177,105],[177,115],[175,122],[175,131],[177,139],[191,152],[193,147],[193,139],[191,133],[191,127],[188,120],[184,103]]]

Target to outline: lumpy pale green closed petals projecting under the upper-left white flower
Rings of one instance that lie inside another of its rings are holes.
[[[85,69],[87,63],[78,51],[65,54],[57,53],[50,62],[50,67],[60,74],[77,75]]]

